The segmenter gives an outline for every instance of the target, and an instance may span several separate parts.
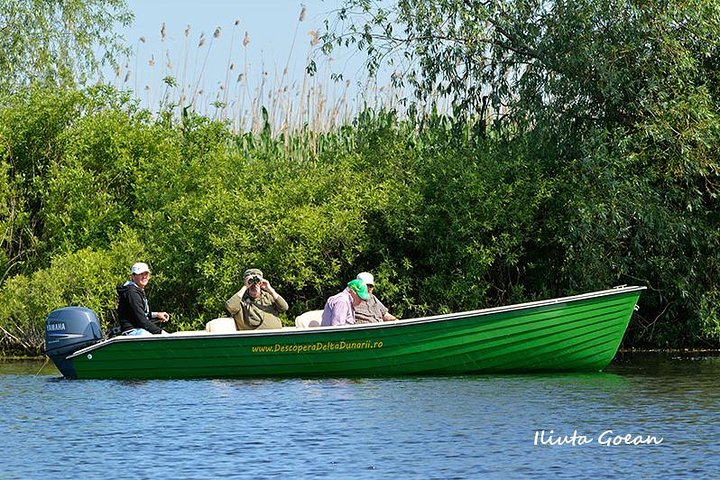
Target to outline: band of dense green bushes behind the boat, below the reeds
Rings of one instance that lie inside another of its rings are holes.
[[[223,315],[248,267],[288,322],[369,270],[401,317],[647,285],[627,345],[717,345],[713,199],[688,203],[612,133],[561,168],[551,142],[475,127],[366,112],[274,138],[106,89],[24,91],[0,108],[2,348],[40,352],[68,304],[112,321],[136,260],[174,328]]]

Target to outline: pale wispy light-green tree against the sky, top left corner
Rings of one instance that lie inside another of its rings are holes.
[[[84,83],[125,51],[125,0],[0,0],[0,93],[33,82]]]

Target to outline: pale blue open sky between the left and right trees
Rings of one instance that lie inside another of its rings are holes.
[[[303,90],[311,54],[311,32],[341,0],[129,0],[133,25],[120,31],[132,49],[113,82],[132,89],[141,105],[156,111],[164,95],[182,88],[194,95],[197,110],[217,112],[213,101],[238,111],[273,88]],[[299,21],[305,8],[303,21]],[[164,27],[164,36],[161,30]],[[188,28],[189,27],[189,28]],[[320,65],[318,78],[328,95],[357,95],[363,82],[362,56],[348,54]],[[343,73],[350,86],[335,85],[330,71]],[[263,83],[264,79],[264,83]],[[222,87],[222,89],[221,89]],[[262,88],[263,90],[259,90]],[[278,90],[279,91],[279,90]],[[260,93],[259,93],[260,92]],[[290,102],[291,95],[282,101]],[[299,95],[299,94],[298,94]],[[267,97],[266,97],[267,98]],[[240,104],[243,106],[240,106]],[[236,112],[236,115],[238,112]]]

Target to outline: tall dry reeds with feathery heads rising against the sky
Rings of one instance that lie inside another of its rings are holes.
[[[274,61],[259,66],[248,60],[254,46],[249,32],[241,30],[240,20],[233,22],[227,35],[225,29],[218,26],[210,36],[204,32],[195,36],[188,25],[183,30],[181,52],[172,52],[168,47],[168,25],[163,22],[158,31],[163,51],[146,52],[146,39],[151,37],[143,35],[136,43],[134,58],[126,59],[124,66],[115,71],[111,83],[122,90],[133,90],[141,105],[154,112],[171,112],[181,118],[183,110],[188,108],[209,118],[227,121],[238,133],[260,133],[267,122],[274,136],[284,138],[302,130],[332,130],[351,122],[360,109],[397,106],[397,92],[378,87],[372,80],[360,76],[333,80],[335,65],[331,58],[315,59],[318,65],[315,75],[308,74],[304,68],[302,72],[292,71],[293,58],[304,55],[304,65],[307,65],[318,43],[317,32],[301,34],[305,16],[303,6],[287,59],[281,64]],[[229,48],[224,80],[208,86],[208,59],[222,54],[216,50],[225,37],[229,37]],[[299,53],[298,45],[303,43],[305,52]],[[145,71],[150,73],[145,77],[141,76],[140,62],[147,62]],[[360,69],[357,73],[360,75]]]

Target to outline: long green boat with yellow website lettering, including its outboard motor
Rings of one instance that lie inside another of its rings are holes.
[[[644,289],[375,324],[109,339],[92,310],[66,307],[46,319],[46,352],[80,379],[591,372],[617,353]]]

